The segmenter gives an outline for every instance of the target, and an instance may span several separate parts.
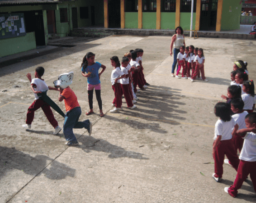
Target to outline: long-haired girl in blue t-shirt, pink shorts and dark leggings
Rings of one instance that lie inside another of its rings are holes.
[[[82,68],[82,76],[87,77],[87,92],[88,92],[88,100],[89,100],[89,106],[90,111],[86,112],[85,115],[90,115],[91,113],[94,113],[93,111],[93,90],[95,89],[96,99],[98,101],[98,105],[100,108],[100,117],[104,116],[104,113],[102,111],[102,100],[100,96],[100,76],[106,69],[106,67],[99,63],[95,62],[95,54],[92,52],[88,52],[83,62],[81,63]],[[99,73],[100,68],[102,70]]]

